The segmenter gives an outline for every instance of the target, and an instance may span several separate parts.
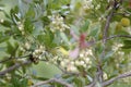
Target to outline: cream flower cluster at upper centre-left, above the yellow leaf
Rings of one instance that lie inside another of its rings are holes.
[[[59,14],[53,14],[52,16],[48,17],[51,20],[50,29],[52,33],[56,30],[64,32],[66,29],[70,28],[67,24],[64,24],[63,17]]]

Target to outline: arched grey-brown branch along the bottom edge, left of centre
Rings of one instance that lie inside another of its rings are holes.
[[[45,82],[39,82],[39,83],[36,83],[34,86],[32,87],[38,87],[38,86],[41,86],[41,85],[45,85],[45,84],[49,84],[49,83],[59,83],[66,87],[73,87],[73,85],[71,84],[68,84],[67,82],[62,80],[62,79],[59,79],[59,78],[50,78],[49,80],[45,80]]]

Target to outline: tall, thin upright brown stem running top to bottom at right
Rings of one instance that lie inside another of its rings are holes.
[[[107,16],[107,20],[106,20],[106,24],[105,24],[105,27],[104,27],[104,37],[103,37],[103,42],[104,42],[104,50],[102,52],[102,59],[105,57],[105,51],[106,51],[106,42],[107,42],[107,37],[108,37],[108,29],[109,29],[109,24],[110,24],[110,21],[114,16],[114,13],[117,9],[117,4],[118,2],[115,0],[114,1],[114,5],[112,5],[112,9],[110,11],[110,13],[108,14]],[[103,83],[103,66],[102,66],[102,60],[98,61],[98,65],[97,65],[97,73],[96,73],[96,79],[102,84]]]

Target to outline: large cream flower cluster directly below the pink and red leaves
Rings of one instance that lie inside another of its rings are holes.
[[[92,61],[90,57],[92,55],[92,50],[86,49],[82,50],[79,54],[79,58],[75,60],[71,59],[70,57],[59,54],[51,59],[51,61],[56,64],[59,63],[60,66],[67,72],[79,72],[79,66],[82,66],[85,70],[91,67]]]

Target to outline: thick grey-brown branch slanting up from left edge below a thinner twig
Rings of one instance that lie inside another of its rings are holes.
[[[8,67],[8,69],[4,70],[4,71],[1,71],[1,72],[0,72],[0,76],[3,76],[3,75],[5,75],[7,73],[9,73],[9,72],[11,72],[11,71],[13,71],[13,70],[19,69],[19,67],[21,67],[22,65],[27,65],[27,64],[29,64],[29,63],[31,63],[31,61],[25,61],[25,62],[23,62],[23,63],[16,63],[16,64],[14,64],[13,66],[10,66],[10,67]]]

